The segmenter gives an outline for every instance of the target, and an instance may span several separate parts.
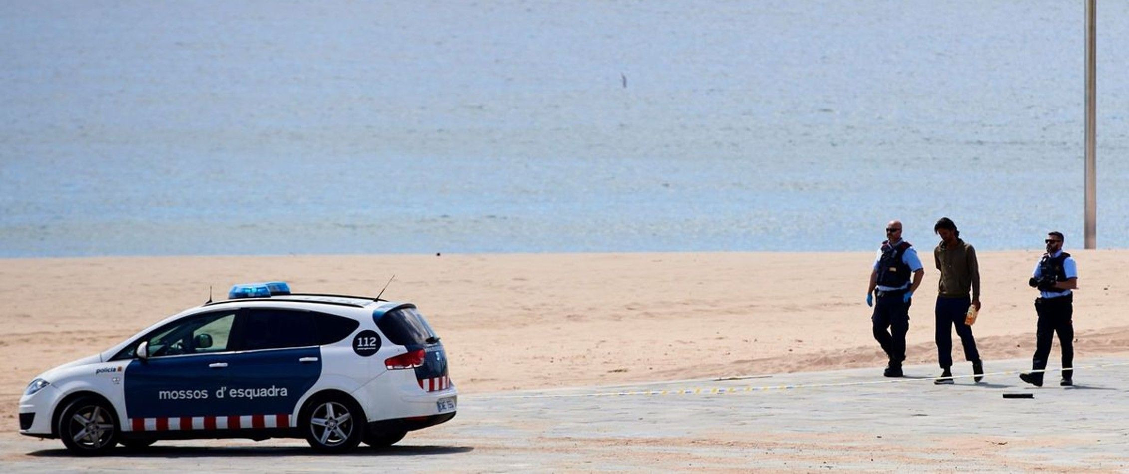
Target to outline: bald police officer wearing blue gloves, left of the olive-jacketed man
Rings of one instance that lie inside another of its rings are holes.
[[[912,283],[910,273],[913,273]],[[902,376],[905,333],[910,330],[910,298],[921,284],[924,275],[925,269],[917,251],[902,239],[902,222],[890,221],[886,225],[886,240],[882,243],[878,257],[874,261],[870,284],[866,291],[866,305],[874,307],[874,313],[870,314],[874,339],[890,358],[883,372],[886,377]],[[878,296],[877,305],[874,304],[875,295]]]

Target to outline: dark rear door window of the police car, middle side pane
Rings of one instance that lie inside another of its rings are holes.
[[[248,309],[239,328],[238,348],[261,349],[305,348],[317,345],[314,314],[301,310]]]

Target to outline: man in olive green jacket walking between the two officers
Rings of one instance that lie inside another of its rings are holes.
[[[933,249],[934,263],[940,271],[937,288],[937,362],[942,374],[934,384],[953,383],[953,328],[961,336],[964,346],[964,358],[972,362],[973,379],[983,378],[983,363],[977,351],[977,341],[972,337],[972,326],[964,324],[969,306],[980,310],[980,266],[977,263],[977,251],[972,245],[960,238],[961,231],[949,218],[940,218],[933,227],[940,236],[940,243]],[[969,290],[972,298],[969,299]]]

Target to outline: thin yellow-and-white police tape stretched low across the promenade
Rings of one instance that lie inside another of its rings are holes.
[[[1115,362],[1115,363],[1096,363],[1089,366],[1075,366],[1062,369],[1040,369],[1040,370],[1006,370],[999,372],[986,372],[975,374],[966,376],[951,376],[944,377],[946,379],[964,379],[974,377],[995,377],[1004,375],[1018,375],[1018,374],[1044,374],[1044,372],[1057,372],[1061,370],[1077,370],[1077,369],[1102,369],[1108,367],[1120,367],[1129,366],[1129,362]],[[765,378],[771,376],[741,376],[741,377],[721,377],[715,378],[709,381],[726,381],[726,380],[741,380],[750,378]],[[942,377],[891,377],[879,380],[859,380],[859,381],[839,381],[839,383],[825,383],[825,384],[787,384],[787,385],[750,385],[743,387],[689,387],[689,388],[673,388],[666,390],[627,390],[627,392],[598,392],[598,393],[585,393],[585,394],[531,394],[531,395],[498,395],[491,398],[577,398],[577,397],[612,397],[612,396],[659,396],[659,395],[727,395],[727,394],[738,394],[738,393],[753,393],[753,392],[769,392],[769,390],[790,390],[797,388],[823,388],[823,387],[849,387],[849,386],[863,386],[863,385],[879,385],[879,384],[912,384],[912,383],[933,383],[934,380],[940,379]]]

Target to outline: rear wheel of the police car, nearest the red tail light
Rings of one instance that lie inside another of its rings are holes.
[[[365,414],[347,396],[323,396],[306,404],[301,430],[306,442],[322,453],[344,453],[365,437]]]

